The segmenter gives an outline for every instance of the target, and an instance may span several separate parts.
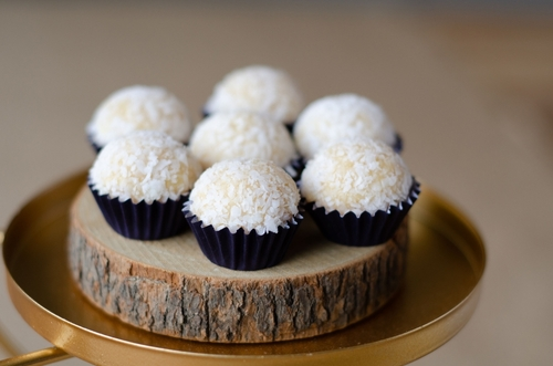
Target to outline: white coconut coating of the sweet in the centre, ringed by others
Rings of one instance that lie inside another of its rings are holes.
[[[284,168],[298,156],[283,124],[244,111],[212,114],[198,124],[189,146],[204,169],[221,160],[239,158],[271,160]]]

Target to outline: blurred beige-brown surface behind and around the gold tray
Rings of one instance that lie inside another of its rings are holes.
[[[379,103],[410,170],[486,241],[476,314],[414,364],[552,364],[552,20],[551,11],[358,1],[2,1],[0,228],[90,167],[84,127],[111,92],[161,85],[199,121],[226,73],[269,64],[295,77],[307,101],[353,92]],[[49,346],[11,305],[0,273],[0,326],[24,352]]]

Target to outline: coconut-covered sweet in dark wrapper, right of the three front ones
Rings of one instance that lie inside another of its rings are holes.
[[[321,150],[303,170],[300,189],[326,239],[351,247],[389,240],[420,192],[401,157],[377,140]]]

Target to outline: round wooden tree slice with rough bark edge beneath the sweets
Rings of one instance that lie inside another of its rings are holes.
[[[125,323],[195,341],[304,338],[361,321],[399,289],[407,220],[388,242],[352,248],[305,218],[276,266],[241,272],[211,263],[188,231],[160,241],[121,237],[84,187],[71,209],[69,260],[83,294]]]

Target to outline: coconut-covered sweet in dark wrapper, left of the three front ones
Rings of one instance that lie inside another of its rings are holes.
[[[187,228],[180,209],[201,171],[181,143],[145,130],[108,143],[90,170],[88,186],[116,232],[157,240]]]

